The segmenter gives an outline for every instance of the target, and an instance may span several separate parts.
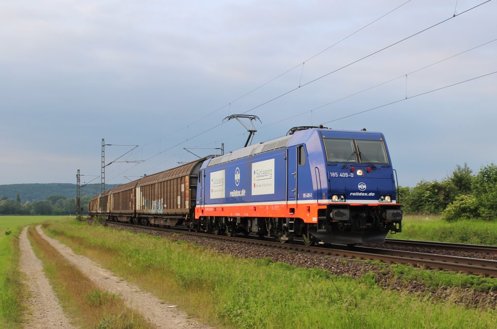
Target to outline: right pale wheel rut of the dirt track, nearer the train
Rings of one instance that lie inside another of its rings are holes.
[[[129,284],[115,276],[111,271],[100,267],[91,259],[75,254],[70,247],[47,237],[40,226],[36,230],[52,247],[55,247],[69,262],[88,276],[97,286],[111,293],[121,294],[129,307],[142,313],[145,318],[158,328],[209,328],[204,324],[188,319],[186,313],[176,308],[168,308],[170,304],[167,302],[165,303],[151,293]]]

